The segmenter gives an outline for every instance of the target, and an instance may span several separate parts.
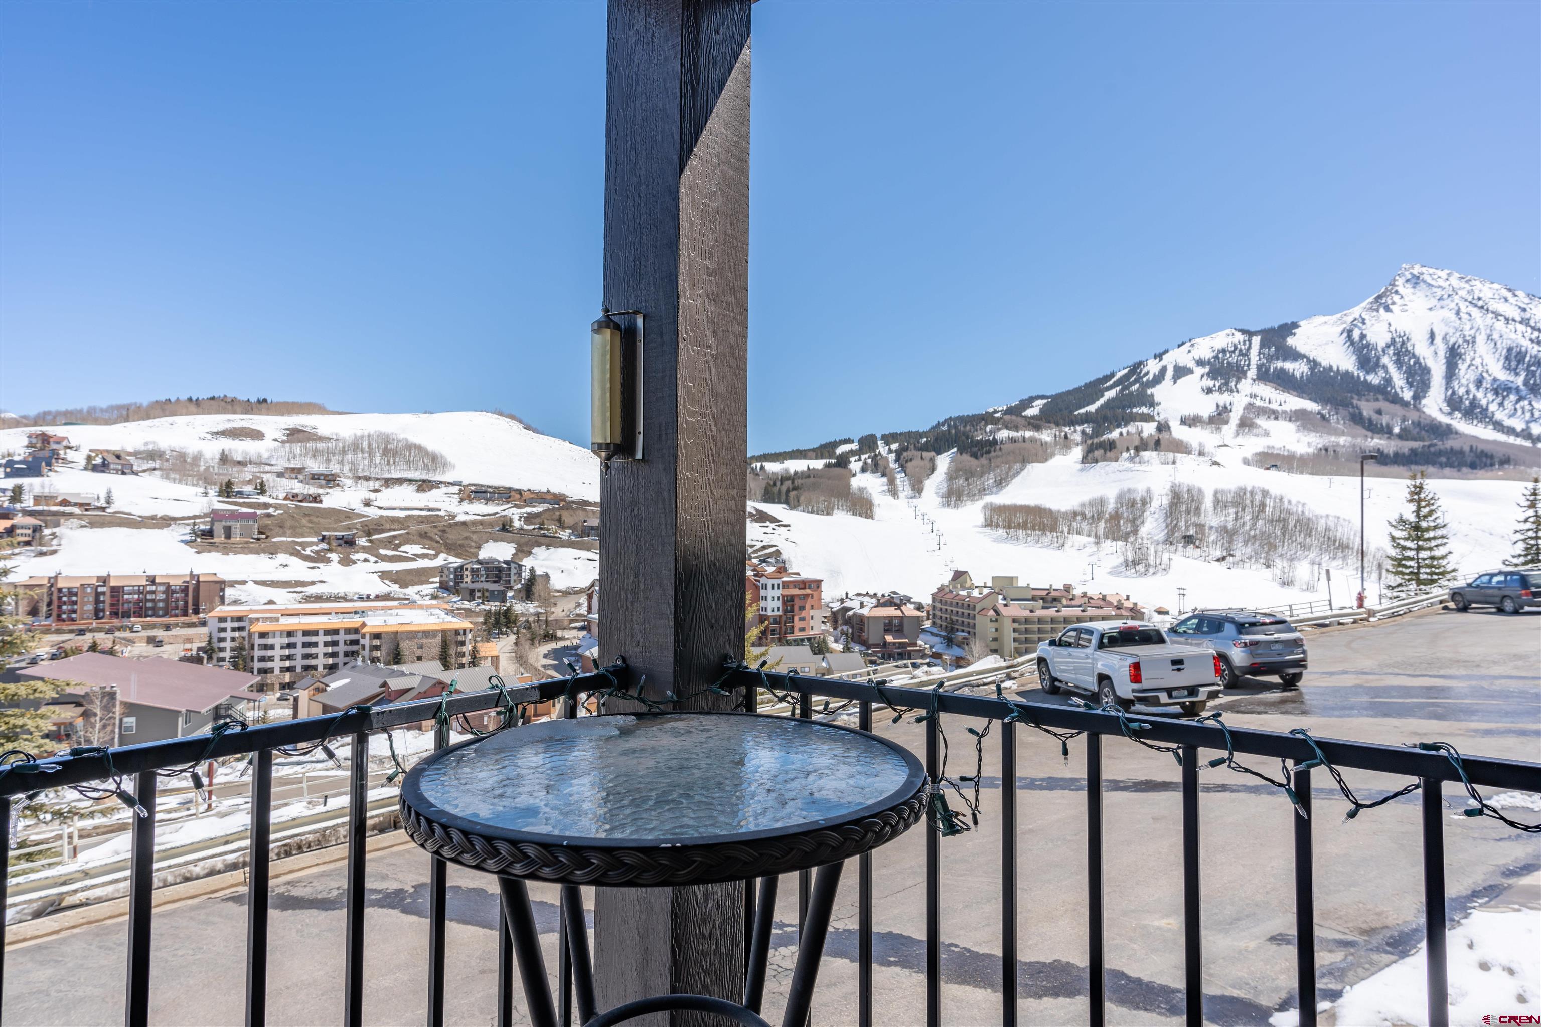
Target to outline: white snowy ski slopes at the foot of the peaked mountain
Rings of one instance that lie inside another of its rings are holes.
[[[1299,604],[1328,599],[1351,602],[1359,587],[1358,560],[1338,559],[1325,565],[1281,564],[1262,567],[1245,560],[1214,562],[1170,550],[1156,567],[1131,568],[1119,545],[1071,539],[1066,545],[1032,545],[983,527],[983,507],[991,503],[1037,503],[1073,508],[1097,496],[1113,499],[1120,490],[1151,490],[1157,497],[1173,482],[1194,485],[1213,496],[1217,488],[1257,487],[1305,503],[1321,514],[1359,524],[1358,477],[1284,474],[1242,463],[1244,451],[1210,457],[1140,454],[1111,463],[1080,463],[1077,454],[1028,465],[1003,491],[963,507],[938,497],[951,456],[937,460],[937,471],[917,497],[901,483],[898,499],[888,496],[877,474],[857,474],[854,483],[874,497],[874,517],[818,516],[781,505],[750,503],[781,524],[750,522],[752,544],[775,545],[787,564],[803,574],[824,579],[824,594],[846,591],[901,591],[929,600],[931,591],[951,571],[966,570],[975,580],[1014,574],[1032,585],[1073,584],[1094,593],[1133,596],[1147,608],[1183,605]],[[1387,540],[1387,524],[1401,513],[1405,482],[1371,477],[1365,490],[1365,534],[1371,553]],[[1445,516],[1456,527],[1452,557],[1469,571],[1499,565],[1510,553],[1510,533],[1523,490],[1513,480],[1433,480]],[[1291,582],[1291,584],[1284,584]],[[1371,571],[1368,599],[1378,602]]]

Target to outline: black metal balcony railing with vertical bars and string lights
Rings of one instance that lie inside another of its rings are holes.
[[[39,788],[91,785],[111,781],[122,799],[137,804],[140,815],[133,819],[129,859],[129,930],[125,1022],[142,1027],[149,1022],[149,961],[151,915],[154,888],[154,831],[157,779],[168,770],[185,768],[208,759],[251,756],[251,831],[248,871],[247,928],[247,1024],[256,1027],[267,1016],[267,955],[268,955],[268,848],[271,841],[271,798],[274,753],[293,747],[314,747],[327,739],[351,736],[350,805],[347,830],[347,902],[344,1013],[348,1027],[364,1024],[364,882],[365,838],[368,830],[368,739],[373,731],[435,721],[435,744],[448,744],[450,722],[461,714],[504,708],[505,714],[522,704],[566,699],[564,714],[576,716],[586,696],[626,694],[630,674],[599,671],[575,674],[515,688],[450,694],[418,702],[385,707],[354,707],[336,716],[308,718],[222,730],[165,742],[126,745],[111,751],[92,750],[82,754],[11,764],[0,773],[0,830],[9,836],[12,799]],[[758,708],[761,690],[780,691],[792,701],[794,716],[812,718],[814,697],[840,702],[840,711],[854,707],[858,727],[872,727],[874,707],[891,711],[914,711],[925,719],[925,765],[932,781],[943,774],[938,753],[940,714],[974,718],[999,725],[1000,738],[1000,907],[1002,907],[1002,1024],[1017,1022],[1017,725],[1046,730],[1062,738],[1069,733],[1086,736],[1086,964],[1089,972],[1089,1024],[1105,1024],[1106,959],[1103,932],[1103,736],[1130,736],[1130,719],[1117,711],[1048,705],[1009,699],[1002,694],[977,696],[928,688],[889,687],[886,682],[849,682],[800,674],[781,674],[740,667],[718,682],[730,693],[743,691],[743,708]],[[652,701],[652,708],[661,704]],[[821,713],[824,716],[824,713]],[[1139,739],[1153,747],[1167,747],[1182,764],[1182,841],[1183,841],[1183,995],[1185,1021],[1197,1027],[1204,1022],[1204,958],[1200,945],[1202,901],[1199,888],[1199,767],[1200,750],[1276,758],[1291,765],[1291,801],[1304,813],[1310,810],[1311,768],[1356,768],[1399,774],[1415,779],[1422,788],[1422,865],[1427,938],[1429,1022],[1449,1022],[1449,989],[1445,978],[1445,885],[1444,885],[1444,807],[1442,785],[1458,781],[1478,787],[1541,793],[1541,764],[1507,759],[1464,756],[1452,759],[1441,751],[1311,739],[1304,734],[1282,734],[1248,728],[1228,728],[1216,722],[1167,718],[1140,718]],[[227,725],[228,728],[228,725]],[[982,742],[980,742],[982,744]],[[1068,748],[1065,750],[1068,753]],[[51,770],[45,770],[51,768]],[[1464,781],[1462,781],[1464,773]],[[133,776],[128,793],[123,782]],[[1335,773],[1336,778],[1336,773]],[[926,830],[925,839],[925,978],[926,1024],[942,1022],[942,836],[938,822]],[[1316,1024],[1316,953],[1313,907],[1313,841],[1308,816],[1294,818],[1294,898],[1296,898],[1296,964],[1302,1027]],[[431,859],[428,879],[428,965],[427,995],[430,1027],[444,1022],[445,999],[445,868]],[[6,867],[8,870],[8,867]],[[6,873],[0,871],[0,910],[6,901]],[[857,873],[858,944],[857,944],[857,1013],[860,1027],[874,1019],[872,995],[872,858],[858,858]],[[750,932],[757,896],[754,882],[744,885],[744,950],[755,939]],[[809,875],[798,881],[800,922],[809,901]],[[774,895],[774,890],[770,892]],[[496,901],[495,898],[490,901]],[[569,930],[582,924],[579,910],[567,908],[564,890],[562,913],[558,918],[558,993],[561,1019],[572,1022],[572,950],[566,944]],[[3,921],[3,918],[0,918]],[[572,925],[569,925],[572,921]],[[507,927],[507,925],[504,925]],[[0,922],[3,932],[3,922]],[[0,998],[5,993],[3,933],[0,933]],[[499,932],[498,942],[498,1018],[499,1027],[513,1022],[515,956],[509,932]]]

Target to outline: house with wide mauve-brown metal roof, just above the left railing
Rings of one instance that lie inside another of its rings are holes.
[[[106,653],[80,653],[42,667],[18,670],[23,677],[68,681],[69,687],[49,705],[86,708],[91,687],[117,688],[117,744],[163,742],[186,734],[202,734],[216,721],[233,716],[251,719],[248,691],[256,681],[219,667],[183,664],[174,659],[126,659]],[[83,718],[55,718],[79,722]]]

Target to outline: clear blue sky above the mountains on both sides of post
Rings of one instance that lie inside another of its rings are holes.
[[[1541,5],[755,8],[750,448],[917,428],[1404,262],[1541,293]],[[603,3],[0,5],[0,408],[586,442]]]

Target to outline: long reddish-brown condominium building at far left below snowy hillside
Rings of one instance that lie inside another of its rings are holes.
[[[52,574],[15,585],[23,613],[49,624],[196,617],[225,602],[219,574]]]

